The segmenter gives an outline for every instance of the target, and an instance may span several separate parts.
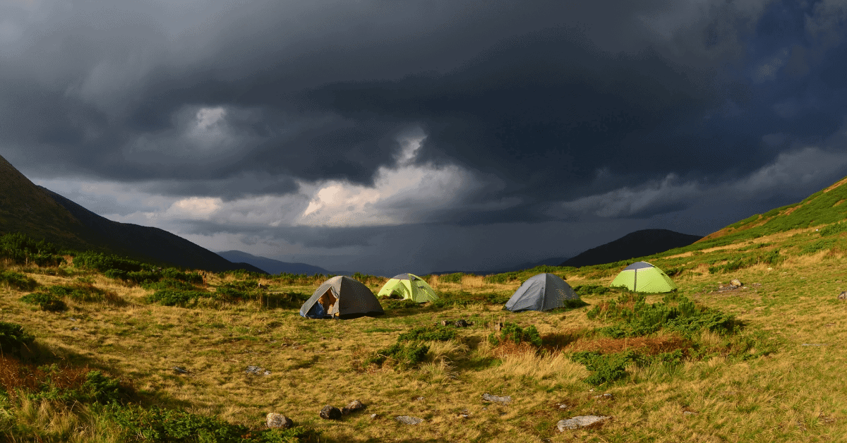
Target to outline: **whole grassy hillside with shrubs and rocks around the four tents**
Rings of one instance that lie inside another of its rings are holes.
[[[297,309],[322,277],[7,259],[0,312],[34,340],[0,341],[0,433],[18,441],[198,441],[180,440],[180,429],[204,441],[839,441],[847,435],[840,189],[645,257],[677,281],[671,295],[608,289],[628,263],[540,267],[424,276],[439,302],[385,300],[382,317],[310,320]],[[501,311],[538,272],[566,278],[584,305]],[[374,292],[385,282],[357,278]],[[744,285],[728,286],[732,279]],[[459,318],[472,324],[440,326]],[[486,393],[512,401],[484,401]],[[318,418],[324,405],[352,400],[364,411]],[[298,427],[263,429],[270,412]],[[589,414],[612,419],[556,429]],[[401,424],[401,415],[423,422]]]

